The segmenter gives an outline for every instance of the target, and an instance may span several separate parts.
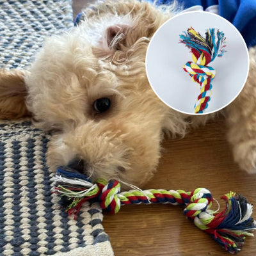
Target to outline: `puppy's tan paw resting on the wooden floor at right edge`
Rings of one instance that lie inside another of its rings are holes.
[[[256,174],[256,139],[238,143],[234,147],[234,160],[242,170]]]

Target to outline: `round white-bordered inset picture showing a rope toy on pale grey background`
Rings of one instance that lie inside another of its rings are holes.
[[[243,37],[228,20],[208,12],[167,20],[147,49],[148,81],[166,105],[191,115],[225,108],[239,95],[249,71]]]

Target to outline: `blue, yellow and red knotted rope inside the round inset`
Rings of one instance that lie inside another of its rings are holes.
[[[184,33],[185,35],[180,35],[180,42],[191,49],[193,62],[188,61],[183,69],[189,73],[193,82],[200,84],[200,95],[194,110],[195,113],[204,113],[211,100],[211,83],[216,74],[214,68],[207,65],[217,56],[223,56],[226,38],[223,32],[215,31],[214,28],[207,29],[205,38],[193,28]]]

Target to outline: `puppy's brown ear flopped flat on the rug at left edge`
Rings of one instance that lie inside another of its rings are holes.
[[[26,73],[22,70],[0,70],[0,119],[31,116],[25,104]]]

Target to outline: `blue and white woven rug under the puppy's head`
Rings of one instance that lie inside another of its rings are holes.
[[[69,0],[0,0],[0,67],[26,67],[45,36],[72,26]],[[29,120],[0,122],[0,255],[113,255],[98,204],[84,204],[77,220],[60,209],[49,140]]]

